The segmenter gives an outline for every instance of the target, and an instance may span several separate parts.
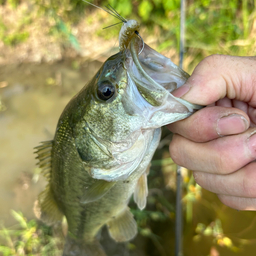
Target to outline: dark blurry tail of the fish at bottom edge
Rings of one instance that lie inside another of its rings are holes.
[[[107,256],[97,240],[86,243],[67,235],[62,256]]]

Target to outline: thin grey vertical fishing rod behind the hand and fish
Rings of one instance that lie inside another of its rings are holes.
[[[185,0],[180,1],[180,61],[179,67],[183,68],[183,58],[184,58],[184,41],[185,41]],[[182,167],[177,165],[176,171],[176,215],[175,215],[175,256],[183,256],[182,250],[182,230],[183,230],[183,221],[182,221]]]

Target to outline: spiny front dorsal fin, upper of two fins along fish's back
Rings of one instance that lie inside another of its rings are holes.
[[[38,159],[37,165],[41,168],[43,176],[50,181],[51,179],[51,168],[52,168],[52,144],[53,141],[43,141],[42,144],[35,147],[34,153],[37,154]]]

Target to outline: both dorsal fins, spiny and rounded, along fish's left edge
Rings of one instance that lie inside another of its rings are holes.
[[[43,176],[50,182],[53,141],[44,141],[41,143],[41,145],[35,147],[36,159],[39,160],[37,165],[42,169],[41,173]],[[39,194],[38,200],[34,204],[34,213],[38,219],[41,219],[48,225],[62,220],[63,214],[57,206],[49,183],[45,187],[45,190]]]

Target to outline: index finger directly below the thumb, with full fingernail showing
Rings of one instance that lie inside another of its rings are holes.
[[[244,132],[249,123],[249,117],[240,109],[209,107],[167,127],[189,140],[207,142],[223,135]]]

